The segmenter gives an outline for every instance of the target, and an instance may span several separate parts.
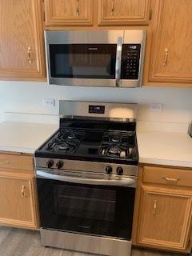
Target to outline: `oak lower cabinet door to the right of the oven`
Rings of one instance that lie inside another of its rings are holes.
[[[138,244],[186,250],[190,240],[192,193],[142,186]]]

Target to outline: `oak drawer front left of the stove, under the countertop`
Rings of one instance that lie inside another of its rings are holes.
[[[23,154],[0,154],[0,169],[34,171],[34,158]]]

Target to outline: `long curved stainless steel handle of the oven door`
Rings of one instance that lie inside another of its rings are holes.
[[[75,177],[75,174],[77,175]],[[100,177],[99,177],[100,176]],[[48,178],[62,182],[71,182],[88,185],[102,185],[102,186],[128,186],[136,187],[136,177],[121,177],[118,175],[102,175],[102,174],[88,174],[88,173],[73,173],[73,172],[59,172],[58,174],[51,174],[50,170],[36,170],[37,178]]]

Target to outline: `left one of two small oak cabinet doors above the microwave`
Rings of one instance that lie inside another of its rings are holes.
[[[45,0],[46,26],[91,26],[94,0]]]

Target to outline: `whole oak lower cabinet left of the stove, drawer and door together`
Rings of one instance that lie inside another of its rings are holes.
[[[38,228],[32,159],[20,154],[0,154],[0,225]]]

